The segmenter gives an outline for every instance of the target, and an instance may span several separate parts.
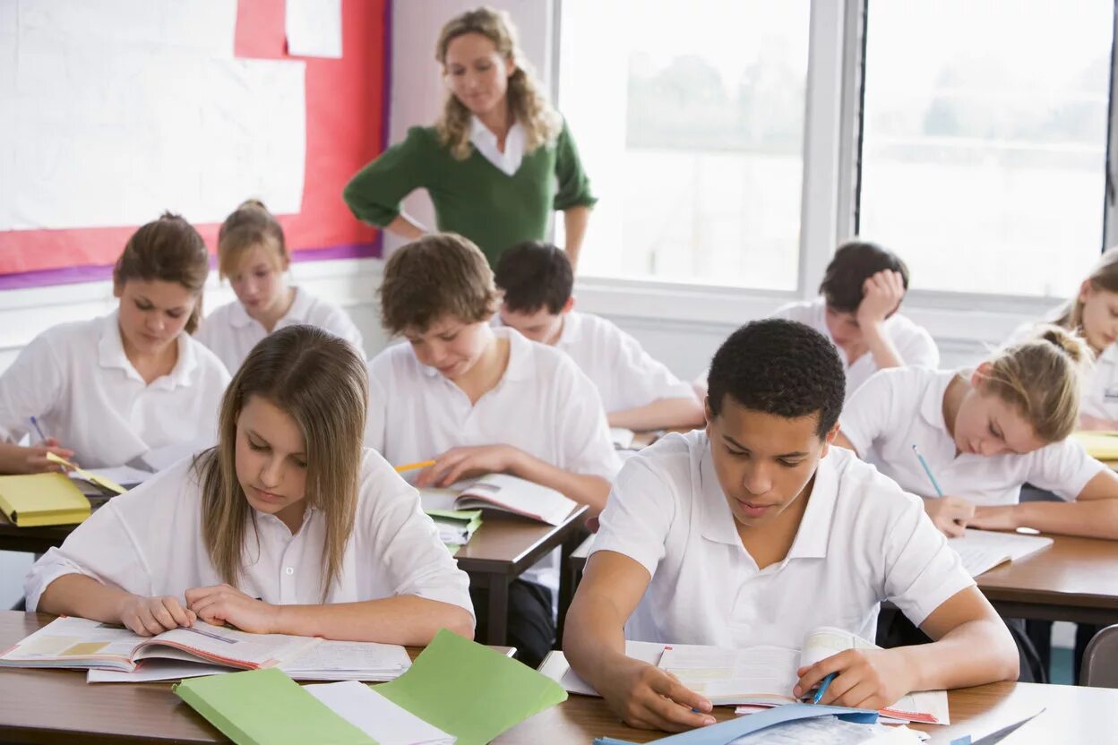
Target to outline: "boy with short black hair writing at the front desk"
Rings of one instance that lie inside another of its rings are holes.
[[[1017,677],[1010,633],[919,499],[831,447],[843,374],[826,337],[748,324],[709,380],[707,429],[626,462],[567,617],[571,667],[615,711],[662,729],[713,722],[710,701],[626,658],[626,638],[796,648],[834,625],[872,639],[883,600],[936,641],[841,652],[802,669],[794,695],[836,672],[822,703],[880,708]]]

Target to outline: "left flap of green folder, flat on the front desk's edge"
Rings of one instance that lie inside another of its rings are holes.
[[[377,745],[277,668],[190,678],[171,690],[238,745]]]

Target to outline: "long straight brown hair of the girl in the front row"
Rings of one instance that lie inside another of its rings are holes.
[[[368,407],[364,363],[348,342],[314,326],[287,326],[248,354],[221,399],[217,446],[195,460],[202,490],[202,541],[221,579],[236,586],[250,563],[254,513],[237,479],[237,421],[250,397],[286,412],[306,446],[309,507],[325,517],[322,600],[342,566],[357,514]],[[258,538],[257,538],[258,548]]]

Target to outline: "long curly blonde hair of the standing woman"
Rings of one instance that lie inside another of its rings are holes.
[[[517,27],[509,13],[483,6],[447,21],[435,47],[435,59],[443,65],[444,70],[446,48],[452,40],[466,34],[481,34],[493,42],[502,58],[511,59],[517,65],[517,69],[509,76],[505,96],[509,113],[524,130],[524,154],[553,142],[562,130],[562,118],[540,90],[536,74],[520,49]],[[451,154],[459,161],[470,157],[473,151],[470,143],[470,117],[471,113],[465,104],[453,92],[447,92],[443,113],[435,122],[435,131],[438,132],[439,142],[448,145]]]

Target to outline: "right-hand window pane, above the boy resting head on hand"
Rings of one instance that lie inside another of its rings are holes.
[[[859,232],[925,289],[1063,296],[1102,242],[1110,0],[871,0]]]

